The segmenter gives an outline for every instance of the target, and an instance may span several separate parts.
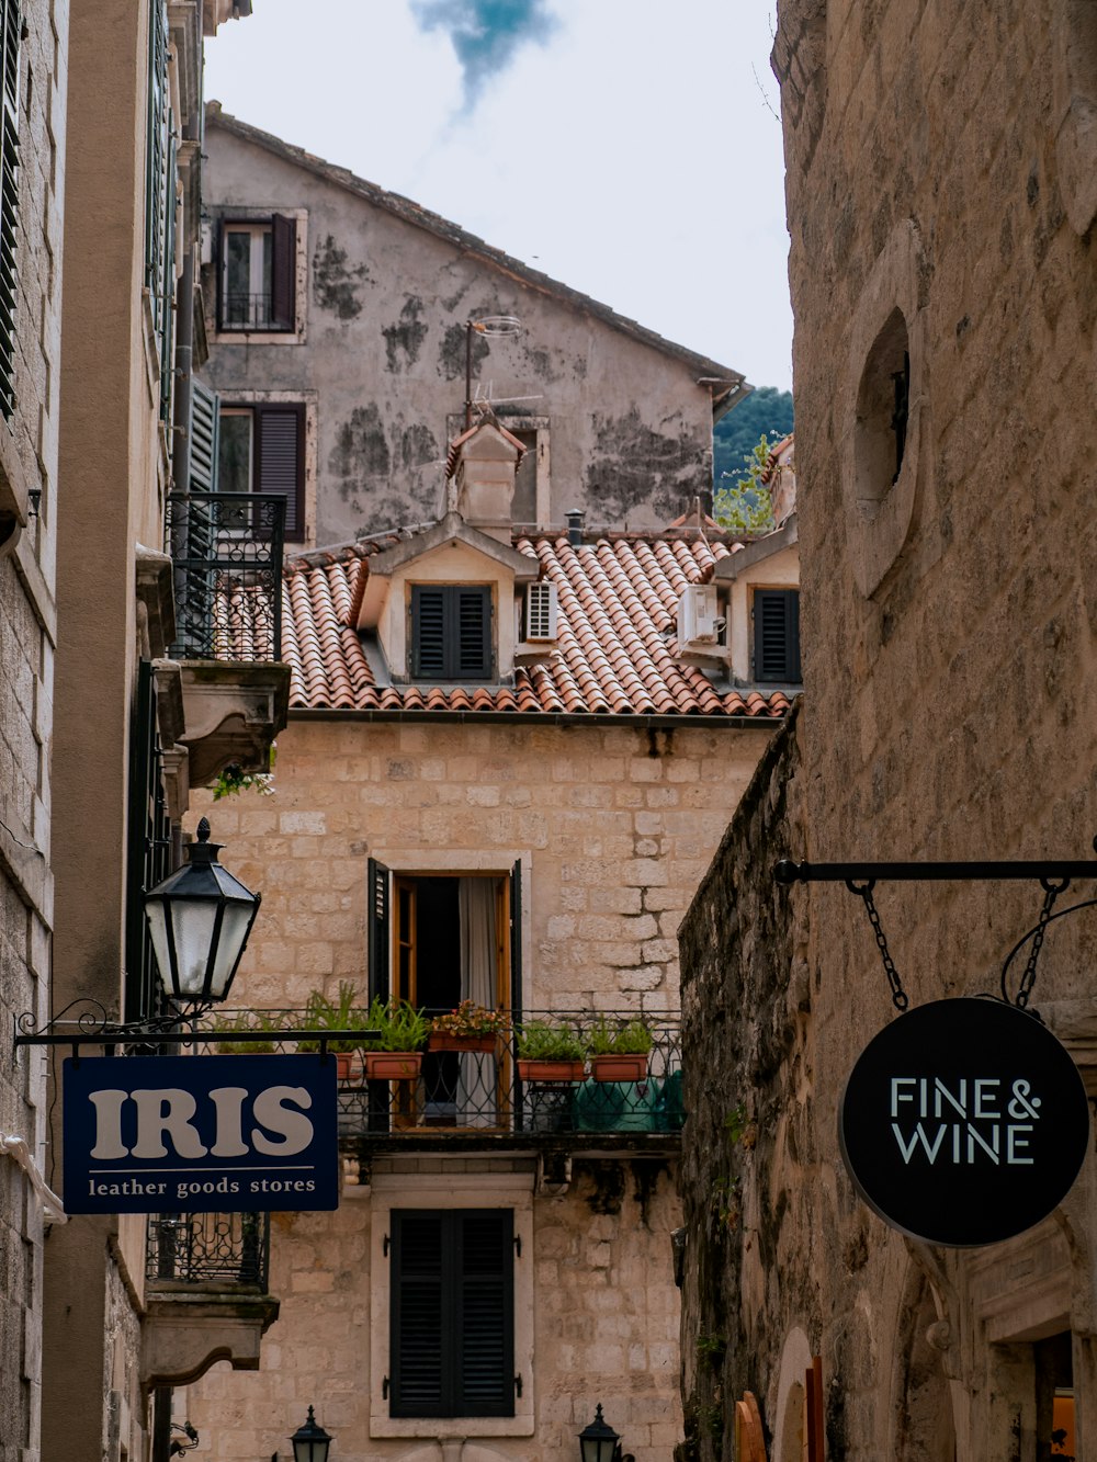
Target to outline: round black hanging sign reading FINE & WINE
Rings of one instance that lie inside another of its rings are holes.
[[[970,1249],[1024,1232],[1066,1196],[1090,1105],[1066,1048],[1034,1016],[999,1000],[935,1000],[862,1051],[838,1142],[885,1224]]]

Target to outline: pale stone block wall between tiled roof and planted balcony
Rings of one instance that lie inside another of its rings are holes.
[[[294,716],[275,797],[208,808],[263,890],[240,997],[364,987],[370,855],[500,873],[522,857],[527,1004],[677,1010],[677,924],[769,730]]]

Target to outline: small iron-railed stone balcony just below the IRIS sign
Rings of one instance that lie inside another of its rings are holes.
[[[269,1265],[269,1213],[151,1218],[142,1380],[183,1386],[218,1360],[257,1370],[260,1339],[278,1319]]]

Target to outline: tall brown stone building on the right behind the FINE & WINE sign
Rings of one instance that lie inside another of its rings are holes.
[[[1097,1444],[1093,1158],[1006,1244],[888,1230],[837,1142],[845,1076],[892,1015],[872,930],[840,885],[772,882],[781,855],[1091,848],[1090,9],[778,7],[804,703],[683,928],[686,1070],[717,1056],[715,1022],[731,1035],[685,1159],[690,1455],[727,1455],[750,1390],[766,1455],[800,1458],[813,1358],[826,1456]],[[876,889],[914,1004],[996,990],[1041,901],[1036,885]],[[1085,911],[1056,923],[1033,996],[1090,1089],[1096,942]],[[687,1077],[687,1105],[701,1096]]]

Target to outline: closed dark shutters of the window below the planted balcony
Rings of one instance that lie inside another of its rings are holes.
[[[393,1417],[515,1414],[510,1209],[392,1213]]]

